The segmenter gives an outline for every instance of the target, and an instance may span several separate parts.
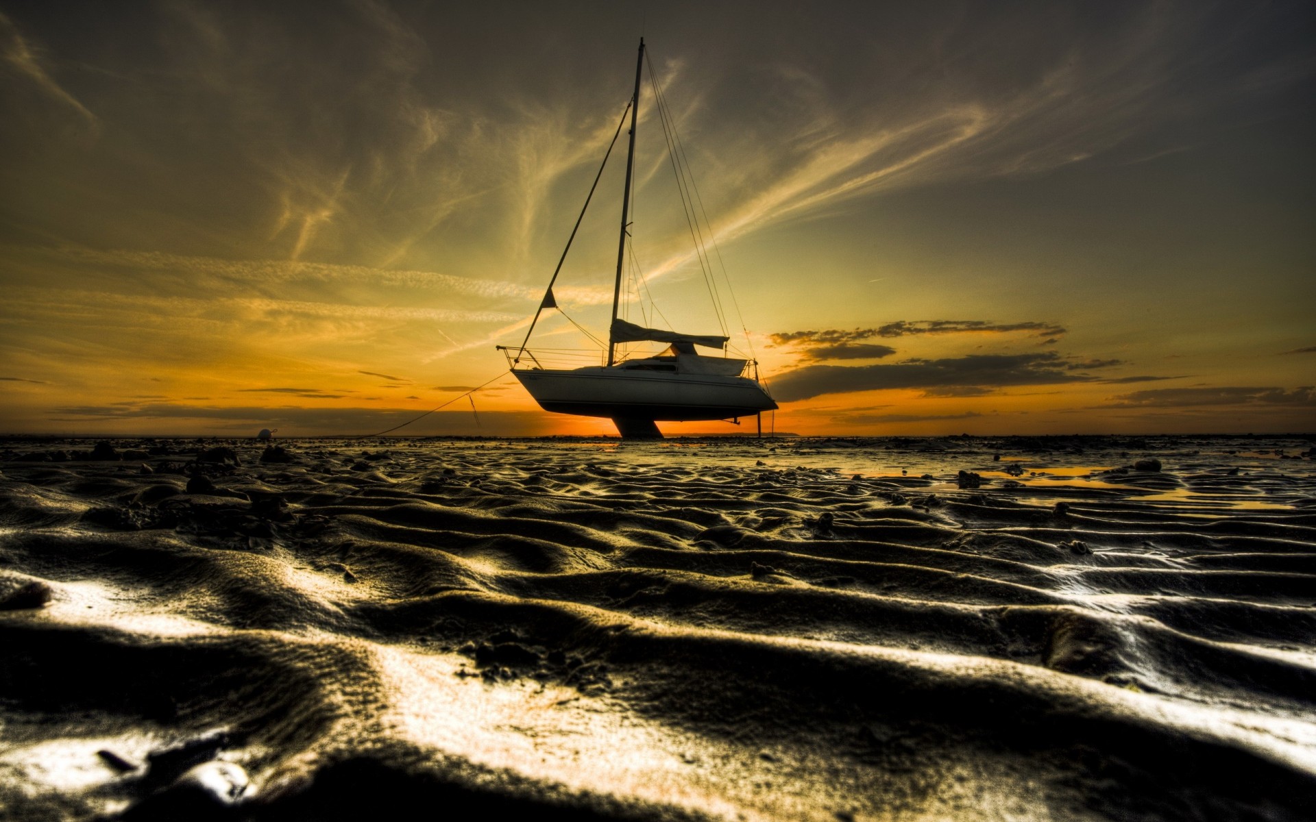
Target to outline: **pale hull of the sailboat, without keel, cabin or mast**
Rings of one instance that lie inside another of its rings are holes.
[[[612,420],[729,420],[772,410],[763,387],[742,376],[595,366],[513,370],[540,408]]]

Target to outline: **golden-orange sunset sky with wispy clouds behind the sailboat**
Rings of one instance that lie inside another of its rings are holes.
[[[1307,1],[0,0],[0,433],[368,434],[505,374],[641,34],[778,431],[1316,430]],[[642,93],[634,262],[719,333]],[[555,288],[595,333],[621,150]],[[400,433],[615,434],[474,408]]]

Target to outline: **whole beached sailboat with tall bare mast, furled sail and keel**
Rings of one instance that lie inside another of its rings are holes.
[[[558,260],[558,267],[549,280],[549,288],[540,302],[525,339],[517,347],[497,346],[508,358],[512,374],[534,397],[540,408],[562,414],[586,417],[607,417],[617,426],[625,439],[661,438],[657,421],[708,421],[729,420],[738,422],[740,417],[755,417],[762,431],[762,412],[775,410],[776,402],[758,379],[758,363],[747,358],[728,356],[730,338],[726,334],[687,334],[663,329],[645,327],[628,322],[619,316],[621,302],[622,270],[626,258],[628,209],[630,187],[634,176],[636,121],[640,107],[640,82],[645,64],[645,41],[640,41],[640,57],[636,62],[636,89],[617,124],[617,134],[630,116],[629,151],[626,154],[626,176],[621,197],[621,235],[617,249],[617,276],[612,292],[612,322],[608,326],[607,360],[597,366],[576,368],[545,367],[534,351],[528,349],[530,334],[546,309],[558,308],[553,285],[562,271],[571,239],[575,238],[584,218],[584,209],[576,220],[567,249]],[[655,84],[655,99],[658,89]],[[661,109],[661,99],[659,113]],[[604,155],[607,166],[613,143]],[[669,149],[671,142],[669,141]],[[678,158],[674,154],[674,164]],[[586,208],[594,197],[603,166],[594,180]],[[683,195],[684,196],[684,195]],[[692,231],[694,234],[694,231]],[[697,243],[696,243],[697,245]],[[697,247],[696,247],[697,254]],[[712,291],[712,289],[711,289]],[[716,299],[716,297],[715,297]],[[572,321],[574,322],[574,321]],[[619,346],[634,342],[666,343],[661,352],[640,355],[620,355]],[[697,349],[712,349],[721,356],[700,354]],[[747,376],[753,374],[753,376]]]

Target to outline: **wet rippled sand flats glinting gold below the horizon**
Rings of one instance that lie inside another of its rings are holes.
[[[0,817],[1316,817],[1307,439],[95,445],[0,443]]]

